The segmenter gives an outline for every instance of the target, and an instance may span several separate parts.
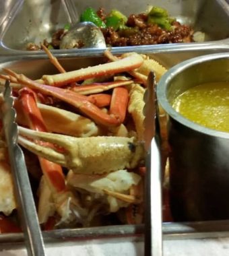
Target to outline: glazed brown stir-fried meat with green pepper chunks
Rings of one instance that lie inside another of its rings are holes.
[[[96,24],[102,31],[108,47],[194,42],[193,28],[171,18],[168,11],[161,7],[150,7],[148,11],[131,14],[129,17],[117,9],[106,13],[104,8],[96,11],[88,7],[81,13],[80,22]],[[59,49],[61,39],[70,28],[69,24],[65,28],[60,28],[53,34],[50,42],[44,39],[43,44],[48,49]],[[83,42],[75,45],[78,49],[82,47]],[[42,47],[30,42],[26,49],[38,51]]]

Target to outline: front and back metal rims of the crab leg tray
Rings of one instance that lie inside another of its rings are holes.
[[[195,53],[195,55],[203,55],[209,53],[216,53],[216,51],[229,51],[228,47],[222,44],[220,49],[217,49],[211,44],[205,47],[194,47],[191,46],[185,51],[180,49],[168,49],[166,51],[154,51],[151,47],[137,47],[137,53],[145,54],[155,54],[168,56],[170,54],[187,55],[190,57]],[[132,48],[133,49],[133,48]],[[90,55],[84,53],[80,55],[79,53],[73,53],[72,55],[59,53],[55,55],[58,58],[69,59],[74,57],[102,57],[103,51],[92,51]],[[116,55],[123,53],[123,49],[112,49],[112,52]],[[96,54],[95,54],[96,53]],[[187,57],[186,56],[186,57]],[[36,59],[48,59],[48,57],[43,53],[42,55],[13,55],[11,57],[1,57],[0,63],[7,63],[10,61],[20,61],[20,60],[36,60]],[[181,59],[180,59],[181,61]],[[34,67],[33,67],[34,68]],[[219,220],[219,221],[206,221],[206,222],[187,222],[187,223],[176,223],[168,222],[163,223],[162,226],[164,239],[185,239],[185,238],[212,238],[212,237],[223,237],[229,235],[229,220]],[[100,238],[119,238],[125,237],[129,239],[143,239],[143,225],[119,225],[119,226],[102,226],[94,228],[76,228],[76,229],[65,229],[65,230],[53,230],[42,232],[44,235],[44,241],[46,243],[60,242],[60,241],[81,241],[86,239],[100,239]],[[18,234],[1,234],[0,243],[23,243],[24,235],[22,233]]]

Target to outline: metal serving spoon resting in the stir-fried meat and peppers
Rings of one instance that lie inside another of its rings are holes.
[[[61,38],[60,49],[106,48],[102,31],[92,22],[78,22],[79,17],[72,0],[63,0],[71,28]]]

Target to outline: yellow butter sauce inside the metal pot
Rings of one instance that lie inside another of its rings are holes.
[[[191,121],[229,132],[229,82],[201,84],[175,98],[173,108]]]

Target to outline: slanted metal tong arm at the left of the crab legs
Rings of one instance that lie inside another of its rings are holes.
[[[9,152],[17,210],[25,235],[26,248],[28,255],[43,256],[45,255],[44,243],[38,223],[32,189],[28,178],[24,154],[18,146],[18,125],[15,123],[16,113],[13,108],[13,97],[11,96],[9,81],[5,82],[3,99],[3,105],[1,107],[1,112],[3,113],[3,129]]]

